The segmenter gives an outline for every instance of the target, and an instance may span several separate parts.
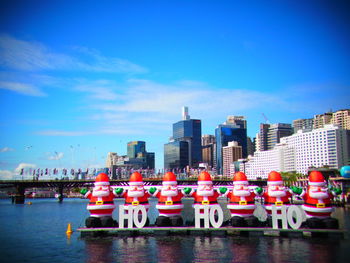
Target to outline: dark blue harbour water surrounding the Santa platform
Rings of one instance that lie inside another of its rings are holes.
[[[282,237],[103,237],[81,238],[73,230],[88,217],[84,199],[31,199],[32,205],[0,200],[0,262],[348,262],[345,239]],[[117,211],[115,211],[116,213]],[[155,220],[154,207],[150,210]],[[117,215],[115,214],[114,217]],[[350,210],[337,208],[350,230]]]

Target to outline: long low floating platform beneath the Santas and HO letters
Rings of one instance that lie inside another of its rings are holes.
[[[144,227],[144,228],[78,228],[81,237],[99,236],[245,236],[245,237],[322,237],[344,238],[344,230],[340,229],[273,229],[266,227],[220,227],[220,228],[194,228],[194,227]]]

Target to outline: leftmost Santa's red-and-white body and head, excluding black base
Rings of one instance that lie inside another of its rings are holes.
[[[90,199],[87,209],[91,217],[112,216],[115,205],[113,199],[115,195],[109,185],[108,175],[100,173],[96,177],[94,188],[85,194],[85,198]]]

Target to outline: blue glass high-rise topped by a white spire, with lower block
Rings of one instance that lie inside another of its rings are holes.
[[[189,165],[190,167],[198,167],[199,163],[202,162],[202,122],[198,119],[190,119],[190,116],[188,115],[188,108],[184,107],[182,111],[182,120],[178,121],[173,124],[173,136],[172,140],[174,142],[187,142],[186,144],[174,144],[173,142],[170,142],[165,145],[165,151],[164,151],[164,168],[170,168],[167,166],[170,163],[174,163],[174,160],[170,158],[167,154],[169,152],[173,152],[170,149],[173,149],[173,146],[179,147],[182,149],[182,147],[188,147],[187,152],[187,161],[186,165]],[[167,151],[167,149],[169,151]],[[185,150],[182,149],[180,152],[184,152]],[[174,156],[171,154],[171,156]],[[170,158],[170,159],[169,159]],[[183,158],[183,156],[181,156]],[[170,161],[172,160],[172,161]],[[184,160],[182,160],[184,161]],[[181,161],[181,164],[183,162]],[[175,163],[180,163],[180,160]]]

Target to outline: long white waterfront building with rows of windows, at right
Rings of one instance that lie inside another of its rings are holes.
[[[240,169],[254,179],[267,178],[272,170],[307,174],[312,167],[340,169],[349,164],[350,131],[328,124],[281,138],[274,149],[256,152],[248,162],[240,164]]]

